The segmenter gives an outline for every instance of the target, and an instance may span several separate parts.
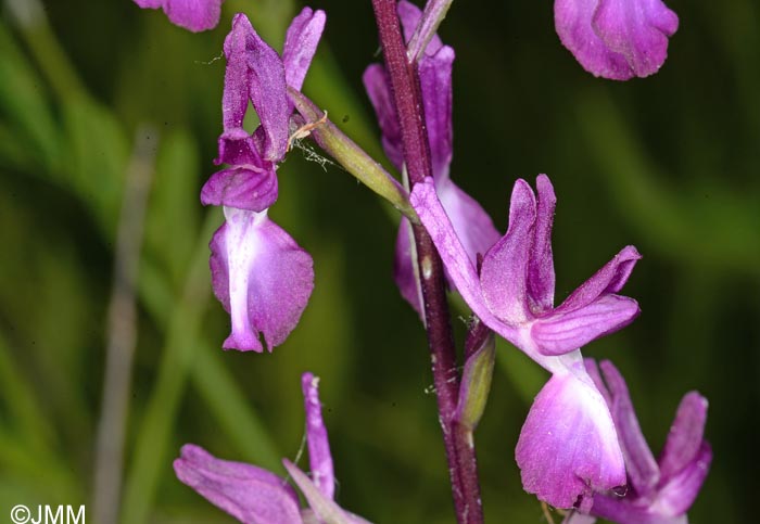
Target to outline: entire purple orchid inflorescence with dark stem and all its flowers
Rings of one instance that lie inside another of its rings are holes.
[[[135,1],[163,8],[173,23],[194,31],[218,23],[223,2]],[[385,63],[370,65],[364,85],[403,187],[301,92],[325,27],[322,11],[304,8],[293,18],[282,53],[258,36],[244,14],[232,20],[224,44],[223,132],[215,161],[226,167],[201,192],[204,205],[223,206],[225,214],[210,244],[214,293],[231,320],[223,347],[271,352],[306,307],[314,286],[312,257],[268,218],[267,209],[278,199],[277,167],[293,137],[311,135],[404,214],[395,280],[422,320],[436,386],[444,385],[436,392],[439,417],[458,521],[483,519],[472,437],[491,384],[495,333],[550,373],[516,449],[528,493],[568,510],[569,524],[595,517],[623,524],[686,522],[712,457],[704,439],[707,400],[696,392],[684,397],[655,460],[620,372],[609,361],[597,366],[581,354],[584,345],[638,316],[636,301],[620,292],[641,255],[631,245],[623,247],[555,305],[557,199],[549,178],[540,175],[535,190],[525,180],[515,182],[504,234],[452,181],[455,53],[435,34],[451,0],[430,0],[425,11],[406,0],[372,4]],[[660,0],[556,0],[555,23],[561,42],[586,71],[626,80],[662,66],[679,20]],[[421,47],[407,50],[407,44]],[[252,132],[243,128],[249,104],[261,123]],[[460,374],[446,343],[451,327],[441,321],[447,314],[444,286],[472,311]],[[367,522],[334,501],[317,379],[305,373],[302,387],[311,478],[288,460],[284,467],[308,508],[275,473],[216,459],[194,445],[186,445],[175,461],[177,476],[246,524]]]

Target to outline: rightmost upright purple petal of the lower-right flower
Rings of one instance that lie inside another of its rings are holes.
[[[687,393],[679,405],[658,461],[663,482],[676,475],[694,460],[702,445],[706,422],[707,398],[697,392]]]

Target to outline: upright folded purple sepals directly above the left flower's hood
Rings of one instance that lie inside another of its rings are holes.
[[[280,55],[261,39],[248,17],[239,13],[225,40],[225,130],[242,127],[250,99],[262,123],[263,158],[282,159],[288,145],[290,106]]]

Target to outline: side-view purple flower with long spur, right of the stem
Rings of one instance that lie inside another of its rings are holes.
[[[515,183],[509,229],[483,257],[480,274],[433,182],[416,184],[410,201],[472,311],[552,372],[522,426],[516,458],[527,491],[557,508],[571,508],[579,496],[625,483],[612,418],[579,348],[636,317],[637,303],[617,292],[641,256],[633,246],[624,247],[554,307],[556,197],[545,175],[536,186],[537,201],[528,182]]]

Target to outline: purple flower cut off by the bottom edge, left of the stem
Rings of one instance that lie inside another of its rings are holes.
[[[312,478],[289,460],[282,461],[311,508],[301,508],[284,478],[256,465],[217,459],[193,444],[182,446],[174,461],[177,477],[243,524],[369,524],[333,500],[335,481],[318,383],[312,373],[301,378]]]

